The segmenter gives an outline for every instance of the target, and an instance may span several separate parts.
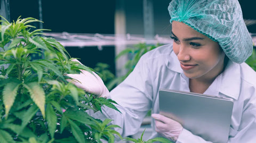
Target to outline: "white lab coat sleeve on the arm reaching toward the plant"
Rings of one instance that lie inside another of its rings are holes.
[[[135,134],[151,108],[152,90],[150,70],[147,60],[142,56],[133,72],[110,92],[110,98],[117,102],[116,107],[121,113],[105,106],[102,108],[103,115],[98,113],[94,117],[112,119],[113,124],[122,128],[116,128],[116,131],[123,137]]]

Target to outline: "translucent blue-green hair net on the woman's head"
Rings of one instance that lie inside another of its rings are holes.
[[[237,0],[172,0],[171,20],[187,24],[217,41],[228,58],[244,62],[252,54],[252,37]]]

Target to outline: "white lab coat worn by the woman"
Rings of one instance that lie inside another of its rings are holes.
[[[189,79],[183,74],[172,44],[153,49],[143,55],[133,72],[115,89],[110,98],[119,105],[119,113],[103,107],[103,114],[93,116],[104,120],[113,119],[122,129],[116,129],[123,137],[137,133],[148,110],[159,113],[159,89],[189,91]],[[229,60],[226,69],[204,92],[234,99],[228,142],[256,142],[256,73],[246,63],[237,64]],[[182,106],[182,105],[180,105]],[[151,122],[153,133],[159,137]],[[211,142],[183,129],[177,142]]]

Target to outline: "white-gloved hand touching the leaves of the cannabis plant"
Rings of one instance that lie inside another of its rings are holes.
[[[76,59],[73,61],[79,62]],[[79,63],[82,64],[81,62]],[[67,79],[67,81],[72,82],[78,88],[81,88],[86,92],[89,92],[96,96],[108,97],[109,91],[107,87],[104,85],[99,75],[97,75],[94,72],[93,74],[88,71],[81,70],[80,74],[67,74],[68,77],[75,79],[75,80]]]

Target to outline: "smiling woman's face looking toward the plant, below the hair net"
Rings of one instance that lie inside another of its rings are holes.
[[[172,22],[173,51],[186,77],[213,80],[223,70],[225,53],[217,42],[182,22]]]

